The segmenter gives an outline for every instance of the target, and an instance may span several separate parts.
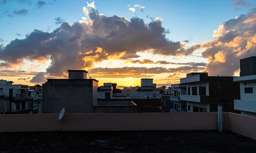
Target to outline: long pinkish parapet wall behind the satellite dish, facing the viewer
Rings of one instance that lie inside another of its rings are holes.
[[[108,130],[217,130],[217,113],[72,113],[0,115],[0,132]],[[83,120],[72,120],[83,119]],[[19,125],[19,126],[17,126]]]

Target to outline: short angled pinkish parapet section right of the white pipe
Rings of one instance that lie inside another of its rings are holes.
[[[256,117],[228,112],[227,129],[256,140]]]

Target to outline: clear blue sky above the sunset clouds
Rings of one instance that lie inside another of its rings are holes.
[[[7,0],[0,5],[0,39],[7,45],[15,38],[24,38],[25,34],[34,29],[52,31],[58,26],[55,18],[61,17],[65,21],[73,23],[84,16],[82,7],[86,6],[86,0],[45,0],[46,4],[41,8],[32,0],[31,5],[19,3],[16,0]],[[90,2],[90,1],[89,1]],[[256,1],[249,0],[256,5]],[[237,15],[246,14],[248,8],[239,7],[233,9],[233,0],[95,0],[99,13],[113,16],[116,14],[130,19],[134,15],[150,22],[149,17],[163,19],[163,27],[170,30],[168,38],[174,41],[191,39],[191,42],[207,42],[212,39],[212,33],[218,26]],[[139,4],[145,6],[144,12],[139,9],[134,13],[129,11],[127,5]],[[28,9],[26,16],[7,17],[4,12]],[[17,36],[21,34],[21,36]]]

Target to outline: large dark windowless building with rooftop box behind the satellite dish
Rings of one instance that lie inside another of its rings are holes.
[[[42,113],[93,113],[97,105],[96,79],[84,79],[86,71],[69,70],[74,79],[47,79],[43,85]],[[80,74],[80,75],[79,75]],[[83,74],[83,75],[81,75]]]

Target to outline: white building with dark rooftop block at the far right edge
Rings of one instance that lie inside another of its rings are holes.
[[[240,99],[234,100],[234,109],[256,117],[256,57],[240,59],[240,77],[233,81],[240,84]]]

